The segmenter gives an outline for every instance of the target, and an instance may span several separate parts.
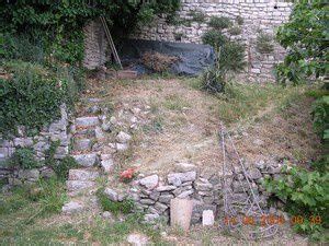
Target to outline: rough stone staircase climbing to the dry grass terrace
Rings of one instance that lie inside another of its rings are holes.
[[[98,101],[97,101],[98,102]],[[95,191],[98,178],[110,174],[114,168],[112,154],[103,153],[102,143],[111,132],[106,110],[94,105],[87,109],[89,116],[73,120],[71,156],[80,167],[69,171],[66,181],[69,202],[63,207],[67,214],[97,209]]]

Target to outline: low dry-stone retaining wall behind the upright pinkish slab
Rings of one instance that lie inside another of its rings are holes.
[[[178,173],[170,173],[166,178],[157,174],[143,177],[132,183],[132,188],[126,191],[105,189],[105,194],[113,201],[129,197],[136,203],[137,209],[146,212],[145,220],[152,222],[160,216],[170,216],[170,200],[173,198],[186,198],[193,200],[192,223],[200,223],[205,210],[212,210],[214,214],[223,215],[223,179],[228,181],[235,202],[246,202],[250,195],[249,185],[242,175],[241,168],[232,173],[198,172],[196,166],[189,163],[178,164]],[[282,201],[270,204],[268,194],[262,186],[265,177],[277,178],[282,175],[282,164],[276,162],[259,162],[248,168],[248,178],[252,190],[258,196],[260,207],[268,213],[276,212],[282,208]],[[245,192],[245,190],[247,192]],[[280,214],[277,214],[280,215]]]

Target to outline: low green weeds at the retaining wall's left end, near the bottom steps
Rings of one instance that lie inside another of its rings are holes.
[[[110,211],[115,215],[117,215],[120,212],[124,214],[133,212],[133,200],[125,199],[123,201],[111,201],[104,194],[104,189],[99,189],[97,192],[97,197],[100,201],[103,211]]]

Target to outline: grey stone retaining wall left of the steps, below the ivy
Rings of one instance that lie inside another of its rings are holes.
[[[24,127],[19,128],[19,136],[12,140],[0,138],[0,180],[7,179],[10,185],[20,185],[24,181],[36,181],[39,177],[48,177],[53,171],[46,166],[34,169],[9,169],[5,161],[15,152],[18,148],[32,148],[37,161],[44,161],[46,151],[52,142],[59,141],[56,149],[55,159],[60,160],[68,155],[70,136],[68,133],[68,116],[65,105],[60,107],[60,119],[44,127],[38,136],[27,137]]]

